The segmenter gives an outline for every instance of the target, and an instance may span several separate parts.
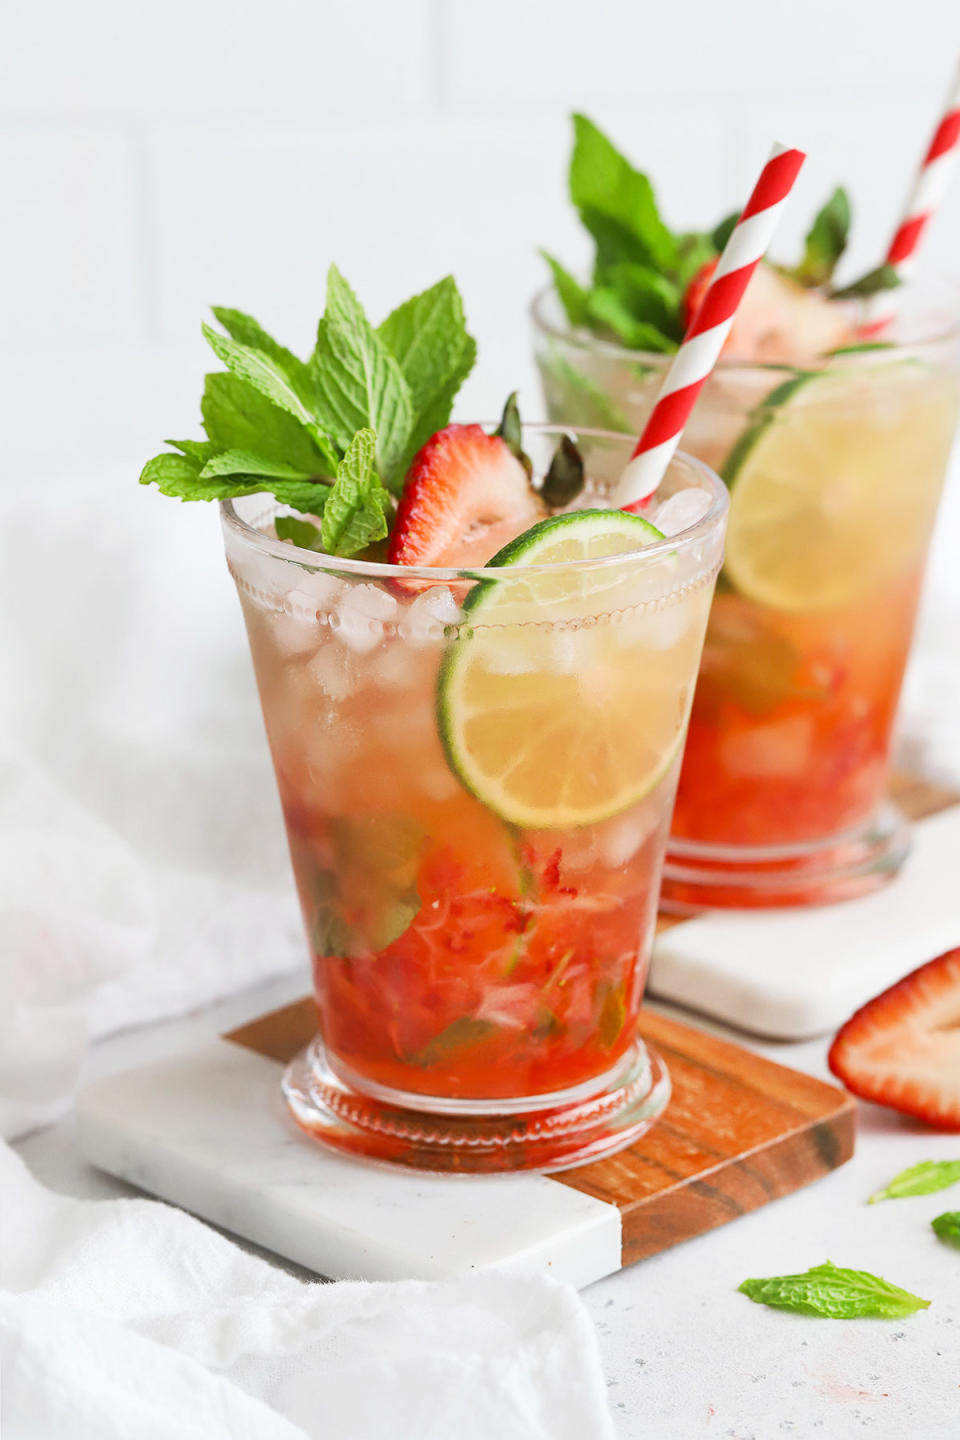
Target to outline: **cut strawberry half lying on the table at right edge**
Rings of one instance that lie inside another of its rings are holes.
[[[828,1058],[861,1099],[960,1130],[960,946],[858,1009]]]

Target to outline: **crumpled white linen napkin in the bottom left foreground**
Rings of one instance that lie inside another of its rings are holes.
[[[4,1440],[610,1440],[570,1286],[304,1283],[150,1200],[39,1185],[0,1142]]]

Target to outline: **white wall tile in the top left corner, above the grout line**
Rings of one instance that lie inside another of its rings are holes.
[[[0,104],[27,114],[390,111],[427,94],[430,0],[26,0],[0,7]]]

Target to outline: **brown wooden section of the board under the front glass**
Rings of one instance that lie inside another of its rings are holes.
[[[312,1001],[302,999],[225,1040],[286,1063],[314,1031]],[[652,1011],[640,1031],[671,1073],[665,1115],[630,1149],[544,1179],[616,1207],[622,1266],[787,1195],[853,1153],[845,1092]]]

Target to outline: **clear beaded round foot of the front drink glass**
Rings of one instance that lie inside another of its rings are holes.
[[[320,1037],[284,1074],[296,1123],[317,1140],[361,1159],[442,1174],[558,1171],[632,1145],[664,1112],[671,1084],[642,1041],[597,1086],[528,1100],[440,1100],[377,1090],[334,1073]],[[571,1097],[573,1096],[573,1097]],[[508,1109],[510,1107],[510,1109]]]

